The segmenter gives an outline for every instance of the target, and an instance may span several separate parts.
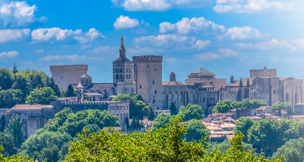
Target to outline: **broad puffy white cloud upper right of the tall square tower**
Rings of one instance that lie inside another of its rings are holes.
[[[204,17],[184,17],[177,23],[162,22],[159,24],[159,32],[178,32],[180,34],[199,33],[199,32],[225,32],[225,26],[215,24]]]

